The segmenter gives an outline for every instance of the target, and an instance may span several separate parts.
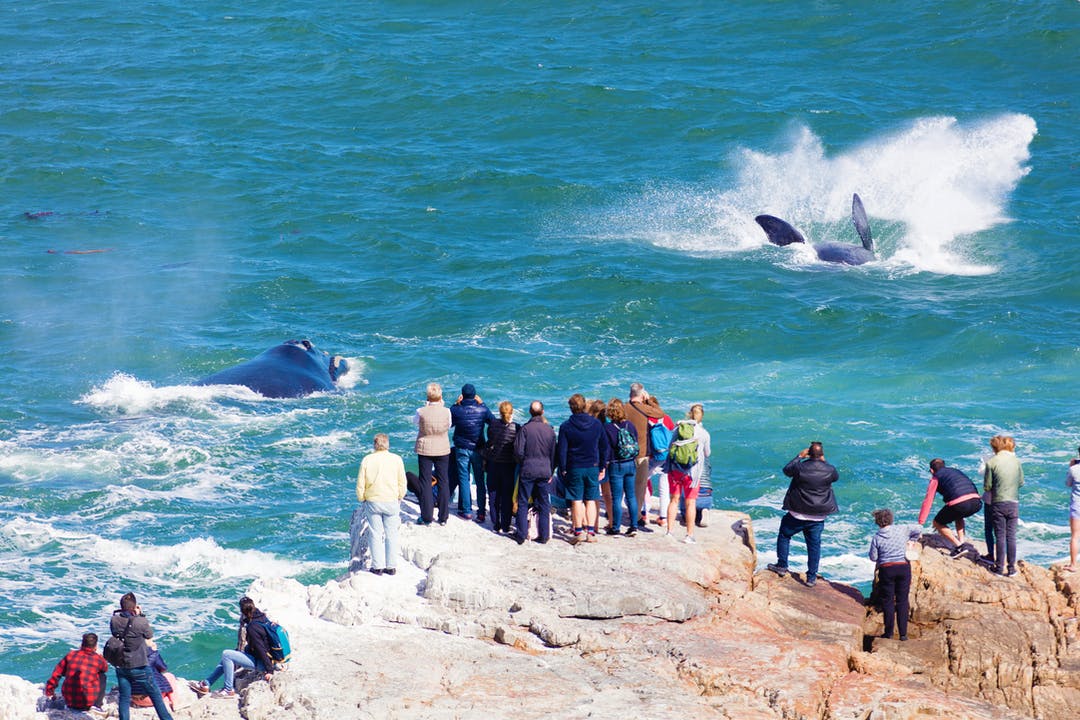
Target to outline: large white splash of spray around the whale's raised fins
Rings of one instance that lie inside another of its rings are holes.
[[[649,190],[605,222],[623,237],[690,253],[766,245],[754,221],[762,213],[788,220],[811,242],[858,243],[850,221],[858,192],[887,267],[985,274],[996,269],[983,259],[993,261],[994,248],[976,252],[970,236],[1008,221],[1004,205],[1029,172],[1035,134],[1024,114],[970,124],[922,118],[829,158],[818,136],[798,127],[781,152],[739,150],[729,189]],[[809,248],[785,250],[799,263],[814,257]]]

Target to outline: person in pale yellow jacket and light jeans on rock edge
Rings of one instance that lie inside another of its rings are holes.
[[[387,434],[379,433],[375,436],[375,451],[360,463],[356,476],[356,500],[367,511],[372,572],[376,575],[397,572],[397,527],[404,497],[405,463],[390,451]]]

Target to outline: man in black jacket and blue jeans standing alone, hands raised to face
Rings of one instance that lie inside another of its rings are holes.
[[[787,574],[792,538],[801,532],[807,543],[806,584],[813,587],[818,582],[825,518],[839,510],[833,483],[840,479],[840,475],[836,467],[825,462],[825,450],[816,440],[784,465],[784,475],[792,478],[784,495],[783,507],[787,513],[781,518],[777,534],[777,561],[770,562],[768,568],[780,576]]]

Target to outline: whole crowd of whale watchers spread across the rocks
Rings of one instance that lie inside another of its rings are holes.
[[[511,403],[500,403],[496,417],[472,384],[463,385],[457,400],[447,407],[442,388],[430,383],[427,403],[414,416],[418,472],[406,472],[402,458],[390,451],[384,433],[375,435],[372,452],[361,462],[356,478],[359,507],[350,530],[350,570],[361,570],[369,562],[368,570],[374,574],[396,573],[401,502],[407,491],[418,500],[417,525],[445,525],[456,494],[461,519],[484,524],[490,512],[492,530],[510,535],[518,544],[530,539],[530,514],[536,526],[534,542],[551,540],[553,498],[568,510],[565,538],[572,545],[596,542],[602,502],[604,531],[625,536],[652,532],[651,524],[674,536],[681,505],[686,526],[683,541],[694,542],[694,526],[705,527],[708,521],[708,503],[702,508],[696,506],[712,454],[711,437],[702,424],[704,408],[694,404],[686,418],[674,421],[639,383],[631,385],[625,402],[589,402],[575,393],[567,405],[570,417],[556,432],[539,400],[529,405],[529,420],[518,423]],[[894,524],[893,512],[888,508],[874,512],[878,530],[868,554],[876,563],[873,596],[881,602],[883,638],[892,638],[899,630],[900,639],[907,639],[912,546],[937,494],[944,504],[934,515],[933,529],[948,543],[949,555],[981,561],[997,574],[1016,574],[1016,525],[1024,470],[1015,447],[1010,436],[990,439],[994,454],[981,468],[982,494],[962,471],[949,467],[942,458],[931,460],[930,481],[917,525]],[[781,576],[791,573],[791,541],[801,534],[807,549],[802,582],[812,587],[819,576],[825,520],[839,511],[833,491],[839,472],[825,460],[824,447],[815,440],[800,449],[784,465],[783,473],[791,481],[777,533],[777,561],[767,568]],[[1080,549],[1080,449],[1069,463],[1066,485],[1070,488],[1071,538],[1069,565],[1064,571],[1075,572]],[[651,521],[647,502],[650,487],[656,487],[659,494],[657,517]],[[964,520],[981,510],[985,514],[987,547],[982,556],[968,541],[964,526]],[[130,717],[133,702],[152,705],[160,720],[171,720],[168,706],[175,678],[166,673],[149,621],[134,594],[121,597],[109,627],[118,642],[117,654],[109,662],[116,667],[121,720]],[[189,683],[190,689],[203,696],[224,678],[222,689],[214,696],[234,697],[238,668],[254,670],[269,680],[278,663],[270,652],[268,628],[265,613],[249,598],[241,598],[235,649],[222,651],[213,671],[204,680]],[[106,717],[100,706],[108,664],[97,652],[97,641],[95,634],[86,633],[81,647],[57,663],[44,685],[44,701],[60,703],[56,689],[63,679],[64,705],[92,717]]]

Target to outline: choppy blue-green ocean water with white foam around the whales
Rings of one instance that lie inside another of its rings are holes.
[[[346,566],[375,432],[640,381],[705,405],[768,561],[821,439],[824,574],[997,433],[1020,554],[1067,552],[1080,444],[1076,2],[293,0],[0,11],[0,674],[143,598],[179,675],[256,576]],[[774,247],[779,215],[878,260]],[[191,383],[289,338],[348,388]],[[972,534],[982,524],[971,524]],[[801,545],[796,544],[797,552]],[[802,558],[796,555],[798,566]]]

